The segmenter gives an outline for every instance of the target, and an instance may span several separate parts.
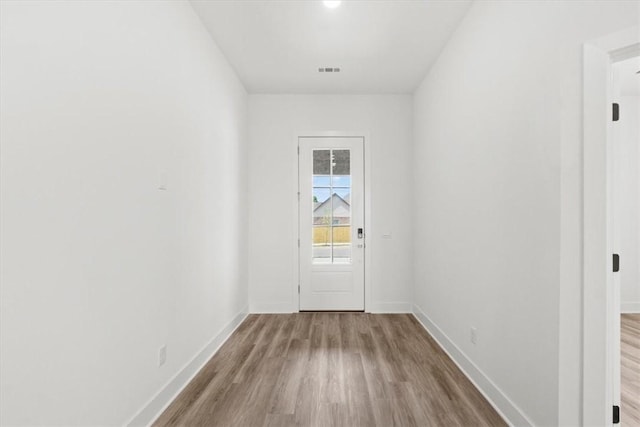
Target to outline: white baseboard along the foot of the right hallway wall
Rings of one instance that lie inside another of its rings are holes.
[[[413,306],[413,315],[509,425],[533,426],[524,412],[417,305]]]

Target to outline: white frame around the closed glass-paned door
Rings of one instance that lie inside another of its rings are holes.
[[[300,138],[362,138],[362,146],[364,152],[363,168],[364,168],[364,312],[371,312],[371,250],[372,250],[372,236],[371,233],[371,150],[369,149],[370,141],[368,132],[355,132],[355,131],[305,131],[295,132],[293,136],[293,146],[291,149],[293,158],[293,188],[291,191],[292,197],[292,212],[296,220],[293,224],[293,241],[291,247],[293,249],[293,277],[294,281],[291,286],[291,295],[293,301],[293,312],[300,311],[300,248],[298,242],[300,241],[300,210],[298,200],[299,189],[299,165],[298,165],[298,144]]]

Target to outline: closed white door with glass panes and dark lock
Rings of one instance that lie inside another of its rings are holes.
[[[300,310],[364,310],[364,138],[298,148]]]

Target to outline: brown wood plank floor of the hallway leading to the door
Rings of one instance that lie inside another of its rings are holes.
[[[504,426],[408,314],[250,315],[155,426]]]

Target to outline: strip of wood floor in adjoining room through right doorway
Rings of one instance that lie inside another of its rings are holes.
[[[620,423],[640,426],[640,314],[623,314],[620,327]]]

